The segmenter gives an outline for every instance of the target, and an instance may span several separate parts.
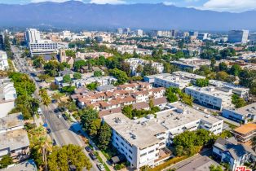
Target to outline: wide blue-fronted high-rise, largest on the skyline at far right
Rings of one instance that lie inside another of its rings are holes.
[[[228,42],[246,43],[248,41],[249,30],[231,30],[228,32]]]

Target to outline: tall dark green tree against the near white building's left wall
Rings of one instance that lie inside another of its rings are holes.
[[[111,128],[106,123],[103,123],[99,129],[99,139],[98,139],[99,149],[101,150],[107,149],[111,139],[111,134],[112,134]]]

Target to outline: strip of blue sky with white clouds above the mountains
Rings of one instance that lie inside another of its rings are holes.
[[[65,2],[68,0],[0,0],[0,3],[26,4],[29,2]],[[241,12],[256,9],[256,0],[79,0],[99,4],[164,3],[177,7],[195,7],[201,10]]]

